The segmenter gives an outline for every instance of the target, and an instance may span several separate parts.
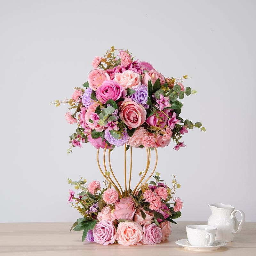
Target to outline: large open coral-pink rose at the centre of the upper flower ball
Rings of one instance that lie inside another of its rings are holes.
[[[146,115],[146,109],[129,98],[119,102],[119,116],[129,129],[144,124]]]

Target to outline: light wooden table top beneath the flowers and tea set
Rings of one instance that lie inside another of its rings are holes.
[[[108,246],[81,241],[82,231],[69,232],[71,222],[0,223],[0,256],[160,256],[160,255],[256,255],[256,222],[245,222],[234,242],[213,252],[190,252],[175,244],[186,238],[185,226],[205,222],[180,221],[172,225],[169,241],[157,245]]]

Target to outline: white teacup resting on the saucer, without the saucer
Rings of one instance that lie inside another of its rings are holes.
[[[216,227],[208,225],[186,226],[188,242],[192,246],[211,246],[215,240]]]

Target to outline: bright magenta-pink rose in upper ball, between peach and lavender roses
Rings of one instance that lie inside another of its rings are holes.
[[[109,99],[118,100],[125,95],[124,87],[112,80],[104,81],[96,91],[96,98],[102,103]]]

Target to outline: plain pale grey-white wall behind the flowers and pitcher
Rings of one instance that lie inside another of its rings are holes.
[[[0,3],[1,222],[75,220],[66,178],[102,180],[90,144],[66,154],[75,126],[67,106],[49,102],[70,97],[112,45],[164,76],[191,76],[185,85],[198,92],[184,99],[182,117],[207,132],[190,130],[180,151],[158,150],[157,171],[181,184],[180,220],[207,220],[206,203],[223,202],[256,221],[255,1]],[[145,154],[134,152],[133,184]],[[115,149],[120,179],[122,157]]]

